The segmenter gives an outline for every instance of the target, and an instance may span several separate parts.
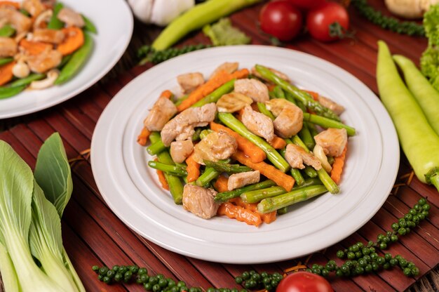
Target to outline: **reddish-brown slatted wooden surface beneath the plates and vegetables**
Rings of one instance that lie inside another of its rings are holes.
[[[385,9],[380,1],[372,2],[377,8]],[[231,20],[236,27],[252,37],[252,44],[268,45],[269,38],[261,34],[256,25],[261,6],[239,11],[231,15]],[[349,13],[352,29],[356,32],[355,38],[322,44],[305,35],[286,46],[333,62],[377,93],[377,41],[384,39],[393,53],[406,55],[418,62],[419,55],[426,47],[426,39],[384,31],[361,18],[353,8],[349,8]],[[90,148],[93,129],[107,103],[128,81],[152,66],[147,64],[134,67],[133,55],[141,44],[151,43],[158,32],[160,29],[157,27],[136,23],[133,40],[123,60],[99,84],[51,109],[1,121],[1,129],[4,131],[0,133],[0,139],[9,142],[32,167],[43,140],[54,131],[62,135],[69,159],[81,158],[72,166],[74,192],[62,220],[62,235],[67,253],[88,291],[144,291],[135,284],[107,286],[97,281],[95,273],[91,271],[92,265],[111,267],[116,264],[136,264],[147,267],[150,274],[161,273],[166,277],[181,279],[189,286],[231,288],[236,286],[234,276],[243,270],[283,272],[299,261],[309,265],[325,263],[330,258],[336,258],[335,252],[339,248],[357,241],[376,240],[377,234],[390,230],[391,223],[406,213],[421,197],[428,197],[431,201],[428,220],[389,248],[389,252],[399,253],[412,260],[420,269],[419,277],[405,277],[399,269],[393,269],[353,279],[330,278],[330,282],[336,291],[438,291],[439,195],[433,187],[422,184],[417,178],[407,185],[404,175],[410,173],[410,165],[403,156],[396,182],[401,186],[397,192],[393,190],[372,220],[350,237],[310,257],[251,267],[210,263],[167,251],[126,227],[107,207],[97,190],[85,150]],[[195,32],[180,45],[200,42],[207,44],[208,39],[201,32]],[[124,71],[127,67],[132,68]]]

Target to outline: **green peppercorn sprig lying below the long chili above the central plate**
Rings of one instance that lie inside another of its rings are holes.
[[[169,60],[170,58],[177,57],[177,55],[182,55],[185,53],[189,53],[192,51],[198,51],[203,48],[210,48],[211,45],[198,44],[198,45],[189,45],[183,46],[182,48],[167,48],[166,50],[156,51],[151,46],[142,46],[137,51],[137,58],[139,58],[140,64],[144,64],[145,62],[152,62],[154,64],[158,64]]]

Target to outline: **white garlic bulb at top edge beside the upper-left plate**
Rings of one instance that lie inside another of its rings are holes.
[[[195,0],[128,0],[136,18],[144,23],[166,26],[195,5]]]

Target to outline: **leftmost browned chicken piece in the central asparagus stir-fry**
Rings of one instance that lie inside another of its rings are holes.
[[[158,98],[143,124],[149,131],[161,131],[169,119],[177,114],[177,107],[168,98]]]

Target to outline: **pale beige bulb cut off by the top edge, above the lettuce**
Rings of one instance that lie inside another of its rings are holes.
[[[439,0],[385,0],[389,11],[402,18],[421,18]]]

